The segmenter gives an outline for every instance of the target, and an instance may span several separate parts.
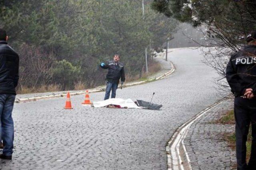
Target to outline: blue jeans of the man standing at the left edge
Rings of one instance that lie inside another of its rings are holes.
[[[3,155],[11,156],[14,140],[14,125],[12,120],[12,109],[14,105],[14,94],[0,94],[0,117],[1,117],[1,140],[3,140]]]

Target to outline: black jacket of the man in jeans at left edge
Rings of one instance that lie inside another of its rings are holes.
[[[0,94],[16,94],[18,80],[19,56],[6,41],[0,41]]]

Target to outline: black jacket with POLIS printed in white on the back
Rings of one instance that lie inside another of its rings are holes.
[[[226,79],[235,96],[243,96],[246,88],[256,94],[256,45],[248,45],[231,56]]]

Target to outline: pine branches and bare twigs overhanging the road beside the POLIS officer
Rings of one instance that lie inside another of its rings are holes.
[[[152,8],[195,28],[206,41],[198,42],[204,62],[214,68],[219,77],[220,95],[230,92],[226,81],[226,64],[230,56],[246,46],[246,37],[256,30],[256,1],[253,0],[154,0]]]

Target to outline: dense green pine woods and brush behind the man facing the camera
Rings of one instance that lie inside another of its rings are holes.
[[[150,8],[152,0],[4,0],[0,27],[20,55],[19,93],[78,90],[104,83],[100,62],[119,54],[128,80],[156,72],[153,51],[178,21]]]

